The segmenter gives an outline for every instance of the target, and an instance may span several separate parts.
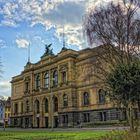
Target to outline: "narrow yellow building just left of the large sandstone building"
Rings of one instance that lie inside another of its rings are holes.
[[[11,97],[8,97],[8,99],[5,102],[5,124],[10,124],[10,116],[11,116]]]

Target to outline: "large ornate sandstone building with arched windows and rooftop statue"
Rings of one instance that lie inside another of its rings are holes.
[[[105,99],[93,76],[95,52],[62,48],[53,55],[49,47],[36,64],[27,63],[12,78],[11,124],[19,127],[74,127],[123,119]]]

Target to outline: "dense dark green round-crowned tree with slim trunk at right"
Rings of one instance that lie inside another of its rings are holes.
[[[140,61],[133,60],[130,64],[117,64],[106,77],[106,86],[111,100],[127,112],[130,130],[134,130],[134,108],[140,96]]]

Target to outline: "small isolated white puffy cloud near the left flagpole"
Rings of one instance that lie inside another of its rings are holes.
[[[28,48],[30,45],[29,41],[23,38],[16,39],[16,44],[18,48]]]

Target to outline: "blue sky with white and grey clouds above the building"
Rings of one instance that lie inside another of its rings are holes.
[[[0,0],[0,96],[11,95],[10,81],[19,75],[28,60],[35,63],[52,43],[55,54],[63,47],[81,50],[87,47],[83,35],[83,17],[91,6],[106,0]]]

